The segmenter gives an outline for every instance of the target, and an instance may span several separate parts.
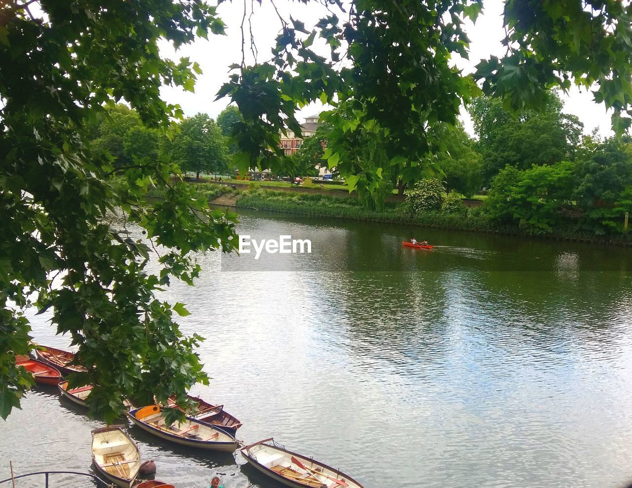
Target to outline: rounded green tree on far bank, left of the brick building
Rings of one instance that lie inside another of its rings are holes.
[[[179,124],[171,145],[167,145],[174,162],[181,169],[200,173],[221,173],[228,170],[228,150],[221,130],[207,114],[187,117]]]

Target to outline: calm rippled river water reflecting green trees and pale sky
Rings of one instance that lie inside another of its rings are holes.
[[[197,286],[164,294],[186,303],[184,330],[207,338],[212,383],[193,393],[242,420],[238,438],[274,436],[366,488],[631,482],[629,250],[248,211],[240,220],[255,239],[311,239],[312,254],[200,256]],[[413,235],[440,245],[403,249]],[[31,318],[35,340],[68,345],[46,315]],[[32,391],[0,421],[0,478],[9,460],[21,473],[90,470],[99,426],[54,389]],[[276,486],[238,454],[129,432],[157,479],[177,487],[207,487],[216,473],[226,488]]]

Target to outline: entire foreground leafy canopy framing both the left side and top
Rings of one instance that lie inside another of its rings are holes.
[[[323,116],[332,126],[329,167],[351,189],[370,193],[424,176],[437,150],[430,128],[454,126],[461,104],[481,91],[518,111],[544,107],[551,86],[597,83],[595,100],[614,109],[617,134],[631,124],[629,3],[507,0],[506,55],[481,62],[473,76],[452,59],[467,57],[463,19],[477,18],[482,0],[322,3],[329,13],[313,28],[279,13],[272,59],[250,66],[236,60],[217,95],[241,113],[231,137],[244,172],[291,168],[279,131],[300,134],[297,108],[315,100],[334,107]],[[90,366],[70,381],[95,384],[93,414],[111,420],[128,396],[150,402],[176,393],[185,405],[186,388],[207,381],[195,354],[200,338],[183,336],[173,319],[186,309],[155,292],[171,277],[197,277],[193,253],[234,249],[233,216],[194,198],[178,164],[131,149],[152,144],[140,126],[128,128],[121,146],[116,119],[127,119],[114,105],[125,101],[145,128],[177,141],[183,112],[162,101],[160,89],[193,91],[200,68],[188,58],[161,57],[158,42],[178,49],[223,32],[216,9],[203,0],[0,4],[3,418],[32,384],[14,358],[27,352],[23,311],[32,305],[52,311],[52,323],[78,346],[77,360]],[[327,56],[313,50],[317,36],[329,46]],[[97,150],[86,142],[86,126],[107,134]],[[164,189],[164,201],[143,199],[152,187]],[[123,223],[112,220],[114,212]],[[156,275],[145,268],[148,242],[131,239],[126,222],[164,246]]]

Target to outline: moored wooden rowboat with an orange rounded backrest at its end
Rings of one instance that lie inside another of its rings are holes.
[[[227,453],[239,447],[239,442],[228,432],[191,417],[177,426],[167,426],[163,410],[159,405],[149,405],[133,408],[127,415],[141,429],[176,444]]]

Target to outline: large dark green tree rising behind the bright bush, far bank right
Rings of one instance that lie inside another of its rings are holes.
[[[501,100],[479,97],[470,108],[483,156],[484,178],[489,182],[507,164],[528,169],[532,164],[555,164],[572,157],[579,142],[577,117],[561,113],[562,102],[548,93],[542,112],[525,112],[514,118]]]

